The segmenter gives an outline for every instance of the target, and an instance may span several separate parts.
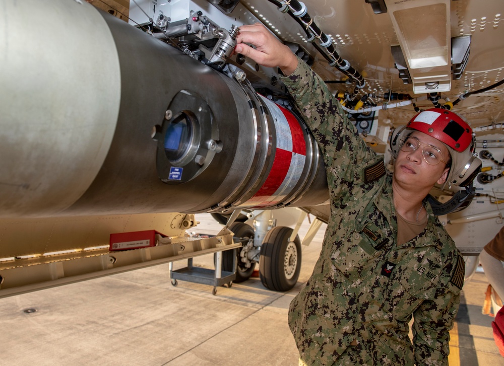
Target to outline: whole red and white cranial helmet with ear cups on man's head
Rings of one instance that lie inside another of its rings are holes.
[[[481,160],[475,153],[476,140],[472,129],[461,116],[441,108],[417,113],[406,126],[396,128],[392,133],[390,148],[394,158],[399,154],[401,144],[413,131],[420,131],[438,139],[450,152],[452,160],[448,178],[437,188],[448,189],[453,193],[473,190],[472,182],[481,170]]]

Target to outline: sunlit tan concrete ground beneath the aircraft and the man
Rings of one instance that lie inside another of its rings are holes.
[[[220,229],[209,214],[197,219],[198,233]],[[307,228],[305,219],[301,239]],[[0,364],[297,365],[287,309],[311,273],[324,230],[303,247],[299,281],[286,293],[267,290],[259,278],[219,287],[216,296],[209,285],[174,287],[166,264],[0,299]],[[210,267],[212,259],[194,263]],[[464,286],[450,366],[504,365],[492,318],[481,314],[486,286],[482,272]]]

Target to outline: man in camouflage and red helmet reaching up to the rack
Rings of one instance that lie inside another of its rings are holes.
[[[464,260],[426,197],[474,179],[471,128],[446,109],[418,113],[396,129],[390,173],[304,62],[262,25],[240,29],[235,52],[281,68],[326,164],[323,248],[289,309],[299,363],[447,365]]]

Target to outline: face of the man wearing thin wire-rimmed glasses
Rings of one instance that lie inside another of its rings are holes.
[[[435,183],[444,183],[449,172],[445,162],[450,159],[446,146],[436,138],[419,131],[414,131],[409,137],[415,143],[418,142],[418,148],[409,149],[410,151],[399,150],[394,163],[394,179],[412,187],[417,186],[418,189],[432,187]],[[442,154],[443,161],[432,165],[435,160],[429,160],[431,159],[429,153],[433,151],[431,148]]]

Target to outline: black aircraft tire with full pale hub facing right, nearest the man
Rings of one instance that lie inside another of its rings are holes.
[[[261,244],[259,275],[263,285],[275,291],[288,291],[297,282],[301,270],[301,241],[296,235],[289,242],[292,229],[277,226],[271,229]]]

